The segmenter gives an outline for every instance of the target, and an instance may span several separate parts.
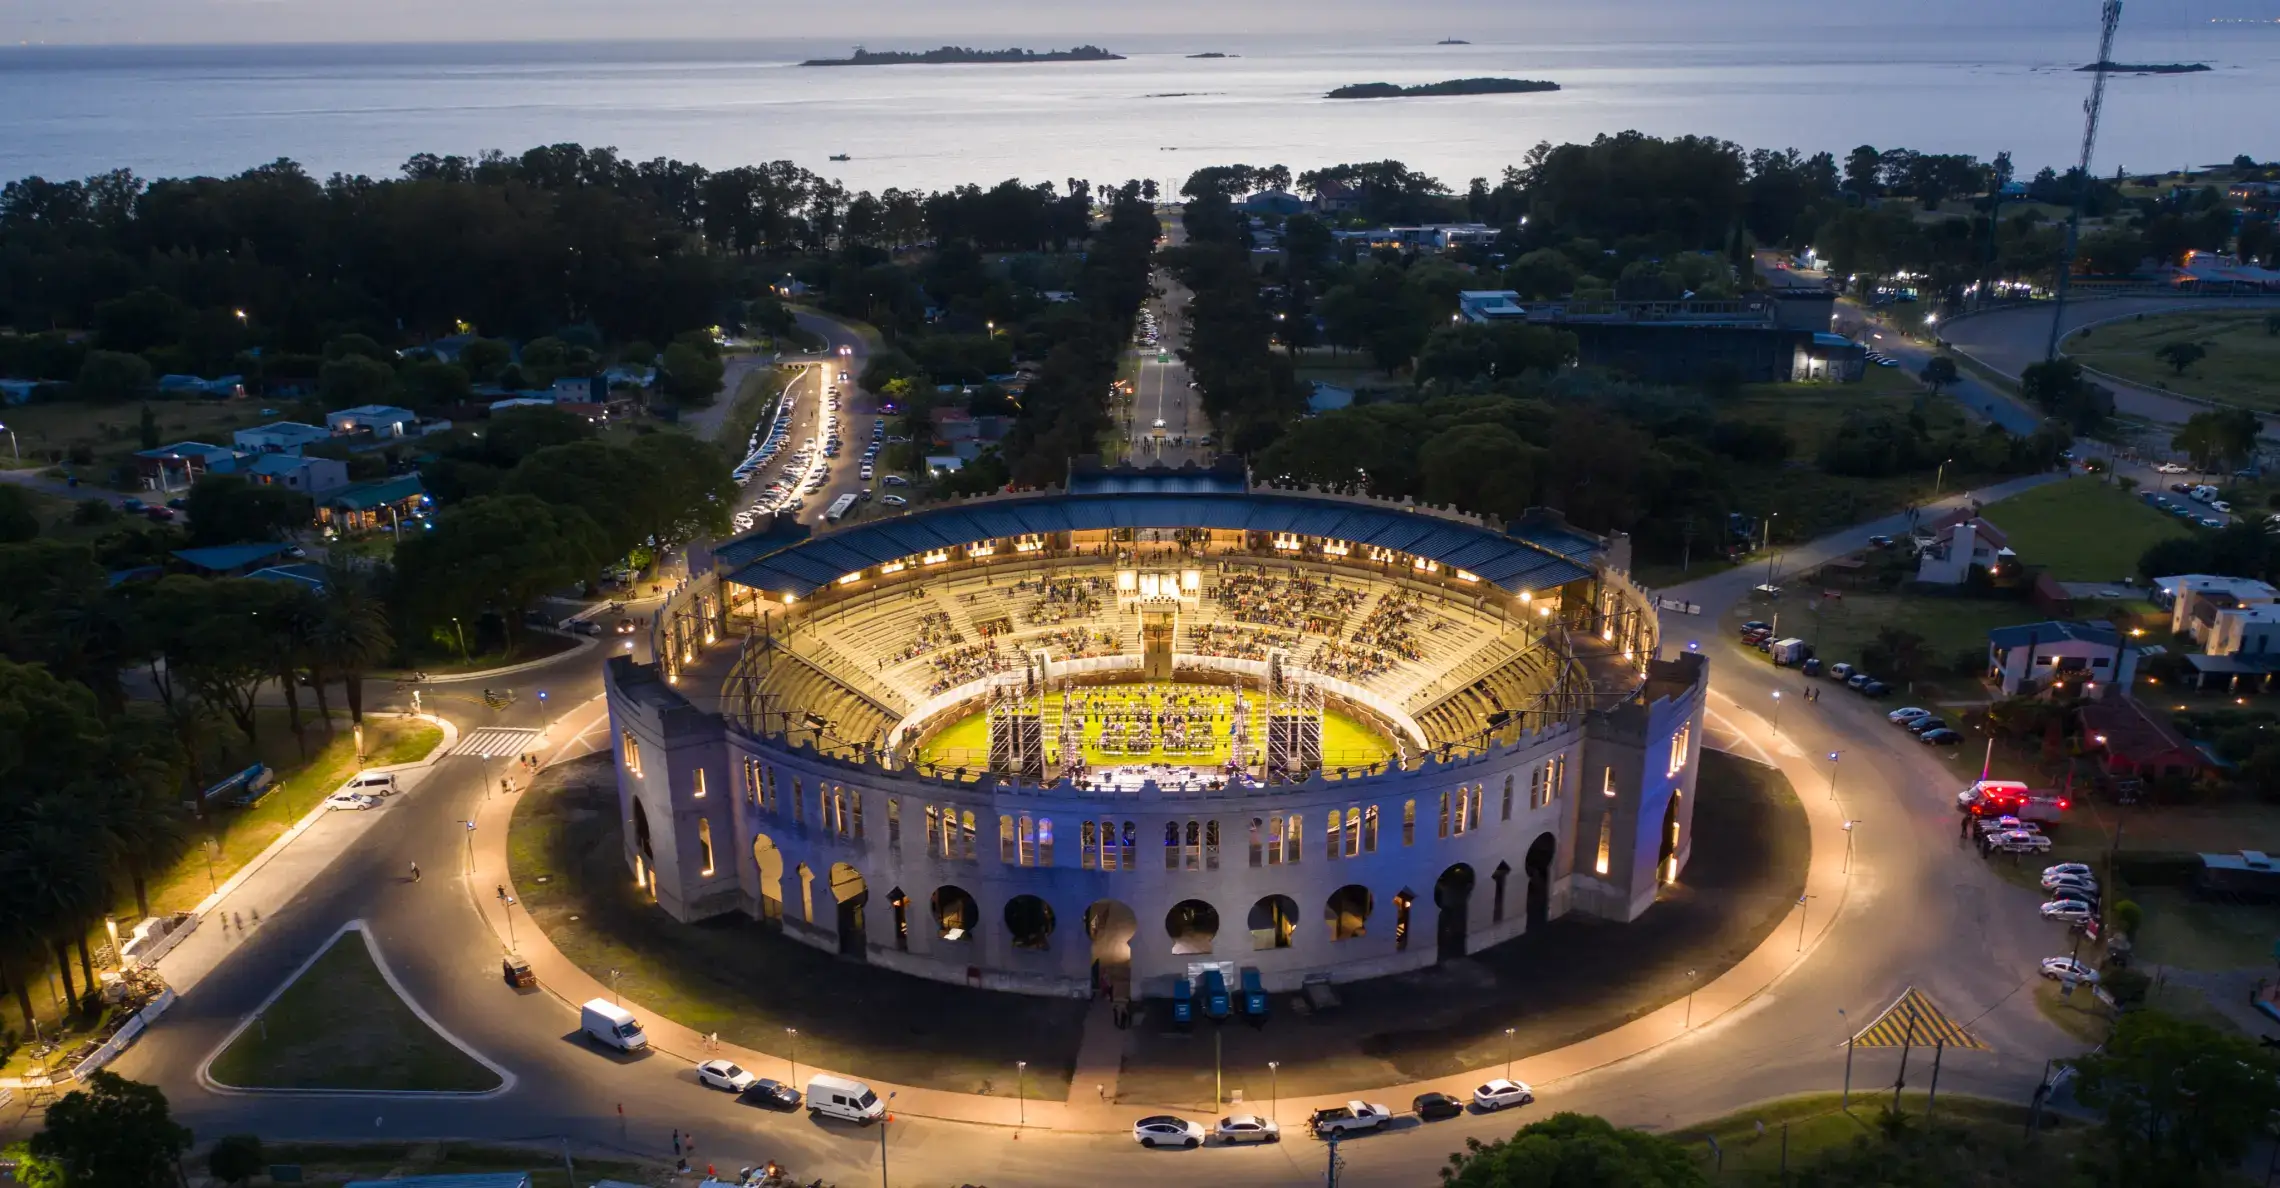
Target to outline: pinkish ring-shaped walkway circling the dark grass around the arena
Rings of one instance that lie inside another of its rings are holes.
[[[1742,709],[1733,698],[1724,698],[1717,691],[1710,693],[1712,714],[1721,718],[1733,732],[1746,741],[1746,750],[1756,752],[1760,762],[1778,766],[1783,775],[1799,789],[1810,789],[1815,784],[1815,768],[1810,757],[1797,750],[1788,739],[1774,741],[1772,748],[1760,746],[1760,739],[1772,739],[1774,732],[1765,718]],[[563,755],[559,752],[554,762]],[[474,828],[474,869],[467,878],[467,894],[477,896],[479,887],[506,885],[508,894],[518,894],[506,864],[506,832],[513,816],[515,800],[522,791],[513,796],[495,796],[477,812]],[[1705,983],[1687,999],[1671,1001],[1660,1010],[1642,1015],[1623,1026],[1594,1035],[1589,1040],[1569,1044],[1564,1049],[1546,1051],[1518,1060],[1512,1074],[1521,1081],[1534,1085],[1541,1095],[1544,1085],[1619,1063],[1632,1056],[1648,1053],[1674,1040],[1683,1040],[1692,1031],[1705,1031],[1719,1022],[1719,1017],[1746,1006],[1751,999],[1762,994],[1767,987],[1776,985],[1792,969],[1797,969],[1813,949],[1819,946],[1822,937],[1831,930],[1845,908],[1847,889],[1851,876],[1840,871],[1840,857],[1845,855],[1845,832],[1842,832],[1842,805],[1824,796],[1799,794],[1799,803],[1806,809],[1806,819],[1813,832],[1813,860],[1806,871],[1806,894],[1810,896],[1801,908],[1806,917],[1799,919],[1797,910],[1776,926],[1767,939],[1733,969],[1726,969],[1715,980]],[[1858,864],[1858,862],[1856,862]],[[479,898],[479,908],[481,896]],[[518,896],[520,898],[520,896]],[[499,933],[502,923],[497,912],[481,912],[483,923],[492,930],[499,942],[499,951],[506,951],[506,937]],[[524,960],[531,962],[531,971],[538,974],[538,985],[554,994],[565,1012],[577,1012],[577,1006],[588,999],[611,996],[609,987],[588,976],[584,969],[572,965],[543,930],[538,930],[529,917],[515,928],[515,949]],[[531,937],[531,939],[522,939]],[[643,1019],[643,1028],[650,1035],[650,1047],[659,1053],[675,1056],[689,1063],[709,1058],[730,1058],[752,1069],[762,1076],[793,1079],[791,1060],[784,1056],[766,1056],[736,1044],[720,1044],[716,1049],[705,1047],[705,1038],[695,1031],[675,1024],[673,1019],[645,1010],[641,1003],[625,1003]],[[1094,1003],[1099,1010],[1101,1003]],[[1692,1026],[1689,1026],[1692,1019]],[[1122,1033],[1108,1028],[1108,1033],[1122,1042]],[[1124,1133],[1131,1120],[1140,1113],[1151,1113],[1149,1104],[1115,1101],[1115,1083],[1106,1069],[1115,1067],[1113,1056],[1094,1051],[1110,1035],[1094,1035],[1094,1028],[1085,1028],[1085,1044],[1078,1051],[1076,1074],[1069,1088],[1069,1101],[1035,1101],[1026,1104],[1026,1126],[1056,1129],[1056,1131],[1097,1131],[1097,1133]],[[814,1063],[800,1060],[798,1081],[805,1081],[819,1072],[837,1072],[841,1076],[853,1076],[846,1069],[819,1067]],[[1471,1076],[1489,1079],[1503,1076],[1505,1065],[1487,1065],[1475,1069]],[[894,1095],[894,1110],[914,1117],[935,1117],[944,1122],[974,1122],[983,1126],[1019,1126],[1021,1104],[1005,1097],[978,1097],[964,1092],[926,1090],[912,1085],[891,1085],[878,1079],[864,1079],[880,1097]],[[1407,1101],[1409,1097],[1427,1090],[1448,1090],[1457,1076],[1436,1076],[1432,1081],[1418,1081],[1409,1085],[1382,1085],[1368,1090],[1373,1099]],[[1094,1092],[1094,1083],[1110,1090],[1110,1104],[1104,1104]],[[1345,1095],[1327,1097],[1290,1097],[1290,1108],[1284,1110],[1277,1101],[1279,1120],[1304,1120],[1311,1110],[1322,1106],[1338,1106]],[[1163,1108],[1190,1108],[1192,1106],[1163,1106]],[[1295,1122],[1293,1122],[1295,1124]]]

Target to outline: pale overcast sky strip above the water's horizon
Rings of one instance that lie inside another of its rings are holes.
[[[0,43],[907,39],[1067,43],[1142,34],[1448,32],[1512,39],[1806,18],[1915,30],[2088,23],[2098,0],[0,0]],[[2130,0],[2127,25],[2280,16],[2280,0]],[[1587,23],[1587,25],[1585,25]],[[1110,46],[1113,48],[1113,46]]]

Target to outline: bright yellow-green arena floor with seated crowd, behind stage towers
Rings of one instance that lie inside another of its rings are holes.
[[[1211,768],[1236,759],[1236,730],[1247,727],[1245,766],[1265,755],[1265,714],[1256,693],[1213,684],[1097,684],[1040,698],[1044,759],[1062,764],[1067,739],[1083,748],[1097,775],[1119,768]],[[1322,709],[1322,768],[1377,768],[1393,741],[1361,718]],[[990,766],[990,714],[978,709],[926,737],[917,762],[939,768]]]

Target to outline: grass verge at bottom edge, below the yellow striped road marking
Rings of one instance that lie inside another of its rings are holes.
[[[1840,1108],[1840,1095],[1833,1092],[1785,1097],[1671,1131],[1671,1138],[1692,1147],[1703,1174],[1715,1174],[1721,1186],[1794,1183],[1813,1163],[1865,1145],[1879,1158],[1895,1163],[1917,1161],[1933,1152],[1959,1154],[1970,1172],[1968,1179],[1956,1181],[1956,1188],[1977,1188],[1981,1183],[2031,1183],[2041,1179],[2038,1172],[2045,1172],[2050,1161],[2070,1156],[2086,1133],[2066,1117],[2043,1113],[2043,1136],[2029,1145],[2025,1138],[2027,1108],[2020,1104],[1943,1092],[1933,1108],[1929,1095],[1911,1090],[1899,1097],[1899,1108],[1908,1115],[1911,1126],[1895,1140],[1876,1124],[1881,1110],[1892,1104],[1888,1076],[1883,1063],[1867,1076],[1886,1081],[1883,1092],[1876,1092],[1865,1088],[1867,1079],[1856,1074],[1851,1110]],[[1911,1083],[1920,1085],[1929,1079],[1929,1058],[1920,1065],[1911,1063]],[[1927,1108],[1933,1108],[1929,1122],[1924,1120]],[[1783,1126],[1788,1126],[1785,1145]],[[1710,1152],[1710,1140],[1717,1140],[1719,1154]],[[1783,1147],[1788,1147],[1788,1177],[1781,1172]],[[1806,1183],[1819,1181],[1806,1179]],[[1867,1181],[1840,1177],[1835,1183]]]

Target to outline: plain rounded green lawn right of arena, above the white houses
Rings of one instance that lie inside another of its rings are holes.
[[[2152,545],[2193,529],[2091,477],[2043,483],[1981,511],[2020,561],[2059,581],[2118,581]]]

